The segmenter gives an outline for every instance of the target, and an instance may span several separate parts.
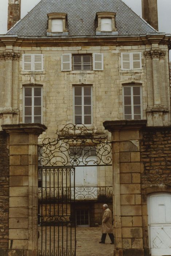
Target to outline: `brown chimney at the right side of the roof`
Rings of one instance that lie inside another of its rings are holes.
[[[142,16],[149,25],[158,30],[158,3],[157,0],[141,0]]]

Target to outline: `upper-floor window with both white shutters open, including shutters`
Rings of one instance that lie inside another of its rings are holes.
[[[104,69],[103,53],[61,55],[61,71],[88,71]]]

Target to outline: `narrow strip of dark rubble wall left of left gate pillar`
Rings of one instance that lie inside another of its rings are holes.
[[[1,249],[8,249],[9,229],[9,155],[4,132],[0,132],[0,219],[1,255]]]

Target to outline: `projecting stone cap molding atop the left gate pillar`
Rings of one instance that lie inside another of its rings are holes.
[[[44,124],[32,123],[32,124],[3,124],[2,129],[8,134],[36,134],[40,135],[46,131],[47,127]]]

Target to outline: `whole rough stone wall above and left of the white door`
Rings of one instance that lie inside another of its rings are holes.
[[[140,142],[143,247],[149,248],[147,197],[171,192],[171,127],[148,127]]]

